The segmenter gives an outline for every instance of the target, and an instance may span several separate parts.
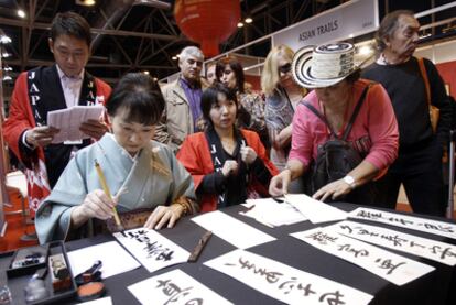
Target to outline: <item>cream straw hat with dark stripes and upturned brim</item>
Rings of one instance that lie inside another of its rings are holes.
[[[329,87],[369,65],[371,58],[361,58],[355,46],[345,42],[303,47],[293,56],[293,78],[305,88]]]

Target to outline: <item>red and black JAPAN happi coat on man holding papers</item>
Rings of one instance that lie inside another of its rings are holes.
[[[29,192],[29,207],[32,216],[34,216],[34,213],[36,211],[42,199],[51,193],[43,148],[36,148],[32,154],[25,154],[20,149],[20,142],[22,142],[23,132],[37,126],[36,117],[34,115],[34,110],[32,109],[30,100],[31,96],[33,96],[33,90],[48,90],[48,88],[33,87],[33,77],[35,77],[35,75],[50,75],[54,84],[55,81],[59,81],[55,65],[52,67],[37,68],[35,70],[42,73],[31,74],[31,72],[24,72],[18,77],[11,97],[9,117],[3,123],[4,139],[8,143],[9,149],[26,167],[25,175]],[[91,76],[85,73],[84,77],[86,78]],[[97,102],[105,104],[111,92],[111,88],[108,84],[98,78],[94,77],[93,79],[93,83],[95,84],[90,84],[89,86],[95,86],[96,100]],[[61,95],[58,98],[62,98],[64,96],[62,86],[59,83],[55,84],[55,86],[59,88],[59,90],[53,94]],[[36,104],[40,102],[48,101],[36,100]],[[43,115],[47,115],[47,112],[45,111],[45,113],[41,113],[42,117],[44,117]]]

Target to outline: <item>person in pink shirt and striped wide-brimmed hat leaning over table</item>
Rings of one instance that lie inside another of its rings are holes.
[[[293,76],[301,86],[314,90],[297,106],[289,161],[271,181],[271,195],[287,193],[290,181],[312,170],[313,164],[318,165],[318,155],[324,153],[329,140],[343,139],[357,152],[360,162],[349,172],[339,172],[324,183],[315,179],[321,172],[313,171],[312,183],[318,185],[311,190],[313,197],[374,204],[367,184],[384,173],[398,156],[399,134],[384,88],[359,78],[359,70],[366,65],[366,58],[359,57],[349,43],[324,44],[296,52]],[[357,115],[354,117],[354,113]],[[355,120],[351,122],[350,118]],[[344,160],[334,161],[334,170],[340,165],[338,162]]]

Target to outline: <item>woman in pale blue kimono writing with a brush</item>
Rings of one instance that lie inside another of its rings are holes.
[[[78,151],[39,207],[41,243],[106,231],[113,207],[126,228],[133,222],[155,229],[171,228],[199,209],[192,176],[167,146],[151,140],[164,105],[150,76],[122,77],[107,102],[112,133]],[[104,172],[112,199],[101,190],[95,164]]]

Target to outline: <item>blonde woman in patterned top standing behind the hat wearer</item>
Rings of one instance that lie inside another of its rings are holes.
[[[286,45],[274,46],[268,54],[261,74],[265,96],[265,122],[271,141],[271,161],[283,170],[291,149],[292,120],[306,90],[292,77],[294,52]]]

